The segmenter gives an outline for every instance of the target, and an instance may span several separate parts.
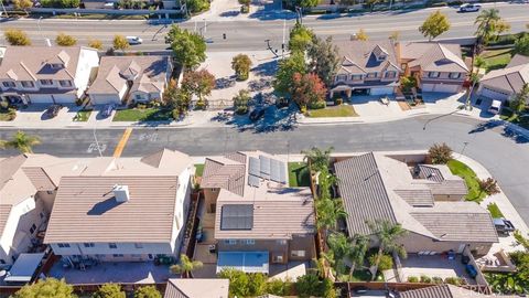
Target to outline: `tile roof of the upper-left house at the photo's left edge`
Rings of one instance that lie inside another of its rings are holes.
[[[73,79],[82,46],[8,46],[0,64],[0,79]],[[39,54],[35,54],[39,53]],[[52,68],[63,63],[65,68]]]

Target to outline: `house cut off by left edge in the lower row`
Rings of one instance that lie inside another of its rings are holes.
[[[0,265],[37,251],[46,231],[60,173],[72,159],[20,155],[0,159]]]

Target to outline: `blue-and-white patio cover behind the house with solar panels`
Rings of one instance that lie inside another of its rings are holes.
[[[268,274],[268,252],[219,252],[217,273],[234,268],[245,273]]]

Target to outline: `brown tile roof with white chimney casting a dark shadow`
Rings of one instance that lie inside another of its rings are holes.
[[[166,243],[177,183],[176,175],[64,177],[44,242]],[[116,202],[115,184],[128,185],[128,202]]]

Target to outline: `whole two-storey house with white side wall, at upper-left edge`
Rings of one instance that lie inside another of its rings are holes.
[[[98,65],[97,50],[90,47],[8,46],[0,64],[0,99],[73,104]]]

